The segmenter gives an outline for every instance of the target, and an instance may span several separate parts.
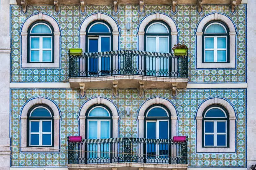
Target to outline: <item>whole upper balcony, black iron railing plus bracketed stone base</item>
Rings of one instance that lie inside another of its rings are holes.
[[[188,81],[187,56],[173,53],[119,50],[69,55],[69,82],[80,88],[144,89],[186,88]],[[164,82],[164,83],[163,83]],[[175,95],[175,94],[174,94]]]

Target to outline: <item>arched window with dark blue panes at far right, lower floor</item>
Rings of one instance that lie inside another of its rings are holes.
[[[204,147],[228,147],[228,112],[220,106],[209,106],[203,117]]]

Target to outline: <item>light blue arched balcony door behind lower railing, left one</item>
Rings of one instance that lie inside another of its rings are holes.
[[[90,109],[87,118],[88,139],[111,138],[110,126],[110,112],[107,108],[102,106],[95,106],[92,109]],[[87,145],[87,150],[88,163],[109,162],[109,143],[91,143]]]

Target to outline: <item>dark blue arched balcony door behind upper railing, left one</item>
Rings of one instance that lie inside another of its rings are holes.
[[[100,53],[112,50],[112,33],[105,22],[95,22],[87,33],[87,52],[99,52],[88,56],[88,75],[109,75],[110,55]]]

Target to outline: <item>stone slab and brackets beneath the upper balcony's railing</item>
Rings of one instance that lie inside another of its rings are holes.
[[[138,89],[138,95],[144,96],[145,89],[170,89],[176,97],[177,89],[187,87],[188,78],[153,77],[144,75],[112,75],[101,77],[70,77],[71,88],[79,88],[84,97],[87,89],[112,89],[113,96],[118,96],[118,89]]]

